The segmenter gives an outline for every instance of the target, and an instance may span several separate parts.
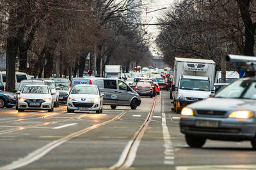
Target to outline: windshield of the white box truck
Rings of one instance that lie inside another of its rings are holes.
[[[182,78],[180,80],[180,89],[210,91],[211,85],[209,80]]]

